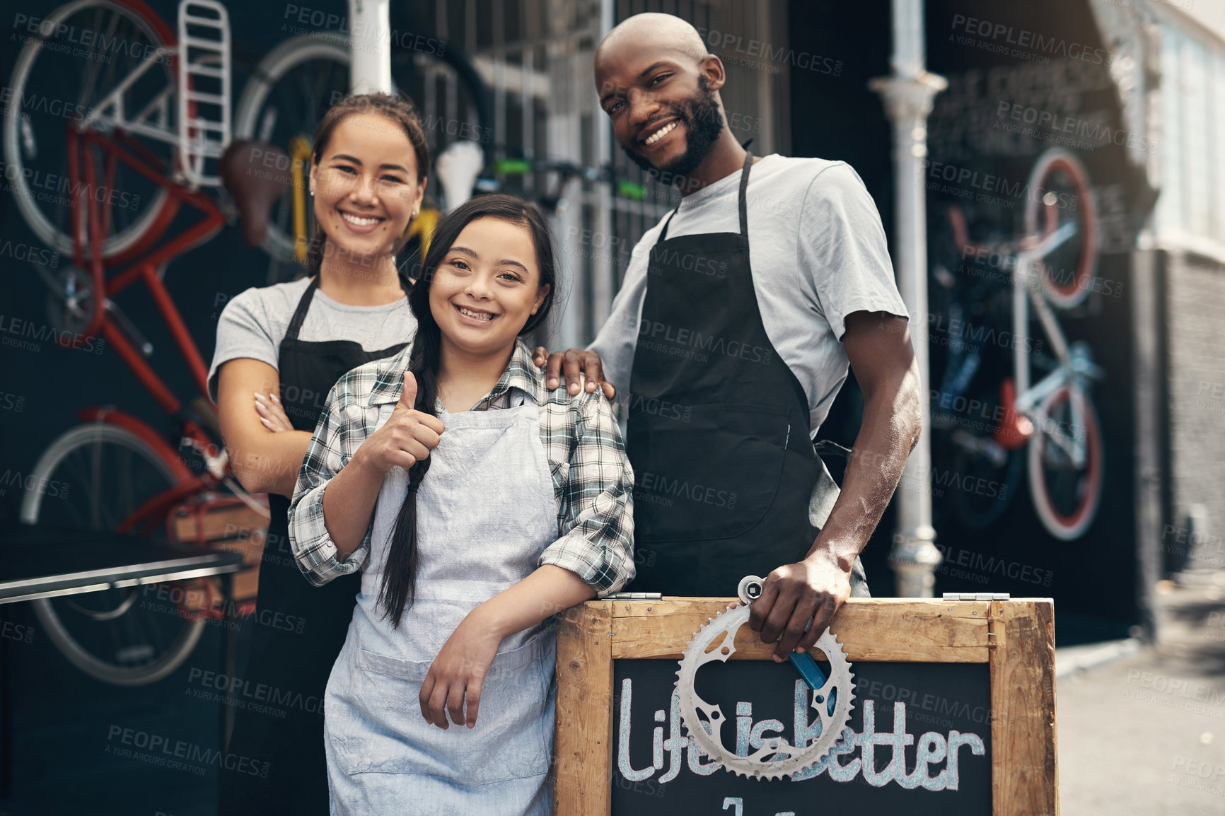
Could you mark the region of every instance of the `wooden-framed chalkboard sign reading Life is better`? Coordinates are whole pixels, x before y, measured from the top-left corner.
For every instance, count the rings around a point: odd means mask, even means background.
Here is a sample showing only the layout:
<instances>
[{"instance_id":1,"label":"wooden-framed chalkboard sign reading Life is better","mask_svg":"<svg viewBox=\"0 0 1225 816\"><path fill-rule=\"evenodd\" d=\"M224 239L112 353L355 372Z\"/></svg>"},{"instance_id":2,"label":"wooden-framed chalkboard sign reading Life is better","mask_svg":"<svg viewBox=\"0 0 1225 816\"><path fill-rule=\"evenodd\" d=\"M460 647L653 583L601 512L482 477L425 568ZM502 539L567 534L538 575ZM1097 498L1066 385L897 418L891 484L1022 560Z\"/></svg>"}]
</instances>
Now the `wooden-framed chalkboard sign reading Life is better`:
<instances>
[{"instance_id":1,"label":"wooden-framed chalkboard sign reading Life is better","mask_svg":"<svg viewBox=\"0 0 1225 816\"><path fill-rule=\"evenodd\" d=\"M851 599L831 630L855 707L834 752L794 778L736 776L690 745L676 660L729 599L588 602L557 643L556 816L1056 812L1051 602ZM696 691L745 755L811 735L811 693L742 626Z\"/></svg>"}]
</instances>

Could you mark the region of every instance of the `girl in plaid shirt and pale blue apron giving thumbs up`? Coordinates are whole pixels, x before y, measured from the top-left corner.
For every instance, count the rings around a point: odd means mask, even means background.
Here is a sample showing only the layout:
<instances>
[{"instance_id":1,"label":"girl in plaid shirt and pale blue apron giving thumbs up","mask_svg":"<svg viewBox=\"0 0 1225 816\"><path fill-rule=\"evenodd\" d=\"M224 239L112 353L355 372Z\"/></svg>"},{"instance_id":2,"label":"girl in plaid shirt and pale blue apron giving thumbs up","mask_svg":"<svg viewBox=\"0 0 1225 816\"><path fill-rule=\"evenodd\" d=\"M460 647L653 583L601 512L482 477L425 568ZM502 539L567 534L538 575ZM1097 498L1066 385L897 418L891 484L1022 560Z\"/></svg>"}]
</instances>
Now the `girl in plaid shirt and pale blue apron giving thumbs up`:
<instances>
[{"instance_id":1,"label":"girl in plaid shirt and pale blue apron giving thumbs up","mask_svg":"<svg viewBox=\"0 0 1225 816\"><path fill-rule=\"evenodd\" d=\"M312 583L361 571L332 814L545 815L551 616L633 577L633 475L604 393L548 390L521 339L556 290L534 207L469 200L423 270L413 343L332 388L289 510Z\"/></svg>"}]
</instances>

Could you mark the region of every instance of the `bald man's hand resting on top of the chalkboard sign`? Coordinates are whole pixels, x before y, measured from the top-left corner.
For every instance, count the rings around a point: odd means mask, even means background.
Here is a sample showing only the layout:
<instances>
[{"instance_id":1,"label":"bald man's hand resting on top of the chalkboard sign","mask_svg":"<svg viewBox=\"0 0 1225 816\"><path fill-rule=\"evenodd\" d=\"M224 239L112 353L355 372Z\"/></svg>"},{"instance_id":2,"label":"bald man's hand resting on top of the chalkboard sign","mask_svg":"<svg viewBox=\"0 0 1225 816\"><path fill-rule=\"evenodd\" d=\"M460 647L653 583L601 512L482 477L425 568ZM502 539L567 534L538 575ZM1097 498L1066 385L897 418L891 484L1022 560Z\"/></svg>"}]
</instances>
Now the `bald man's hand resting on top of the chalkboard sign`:
<instances>
[{"instance_id":1,"label":"bald man's hand resting on top of the chalkboard sign","mask_svg":"<svg viewBox=\"0 0 1225 816\"><path fill-rule=\"evenodd\" d=\"M844 570L826 550L817 550L766 576L762 597L753 602L748 615L748 626L761 633L763 643L778 642L774 662L782 663L793 651L812 648L848 598L850 569Z\"/></svg>"}]
</instances>

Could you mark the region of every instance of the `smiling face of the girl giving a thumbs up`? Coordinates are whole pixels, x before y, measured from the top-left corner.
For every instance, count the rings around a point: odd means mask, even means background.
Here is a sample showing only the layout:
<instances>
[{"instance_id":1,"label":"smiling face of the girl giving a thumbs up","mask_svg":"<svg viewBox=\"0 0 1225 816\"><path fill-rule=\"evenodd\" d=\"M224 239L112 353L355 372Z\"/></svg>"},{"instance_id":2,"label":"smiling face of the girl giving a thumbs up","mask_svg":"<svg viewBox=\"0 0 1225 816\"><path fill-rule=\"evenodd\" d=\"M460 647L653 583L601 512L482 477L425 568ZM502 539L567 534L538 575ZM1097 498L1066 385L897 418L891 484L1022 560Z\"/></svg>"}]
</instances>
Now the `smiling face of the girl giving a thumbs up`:
<instances>
[{"instance_id":1,"label":"smiling face of the girl giving a thumbs up","mask_svg":"<svg viewBox=\"0 0 1225 816\"><path fill-rule=\"evenodd\" d=\"M548 294L528 227L481 217L463 228L434 271L430 312L445 346L499 354Z\"/></svg>"}]
</instances>

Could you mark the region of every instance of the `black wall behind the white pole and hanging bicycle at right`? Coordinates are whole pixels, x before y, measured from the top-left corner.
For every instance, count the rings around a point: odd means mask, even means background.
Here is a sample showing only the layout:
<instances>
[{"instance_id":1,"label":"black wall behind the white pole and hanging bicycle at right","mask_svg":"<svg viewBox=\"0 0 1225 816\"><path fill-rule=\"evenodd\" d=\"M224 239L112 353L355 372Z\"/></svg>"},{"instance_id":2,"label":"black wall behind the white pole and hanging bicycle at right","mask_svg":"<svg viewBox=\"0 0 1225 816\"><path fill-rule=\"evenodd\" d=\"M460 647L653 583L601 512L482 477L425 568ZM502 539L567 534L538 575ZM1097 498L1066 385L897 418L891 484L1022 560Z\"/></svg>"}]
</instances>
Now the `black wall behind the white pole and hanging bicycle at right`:
<instances>
[{"instance_id":1,"label":"black wall behind the white pole and hanging bicycle at right","mask_svg":"<svg viewBox=\"0 0 1225 816\"><path fill-rule=\"evenodd\" d=\"M876 200L893 251L889 124L880 97L866 86L867 80L883 76L889 70L889 4L883 0L858 4L817 1L791 2L789 7L794 48L829 54L845 62L840 77L793 67L794 153L849 162ZM1095 29L1088 4L1061 0L1029 4L929 0L926 12L929 70L951 81L949 89L936 98L929 123L932 162L1008 174L1024 181L1034 159L1051 142L1002 140L998 134L992 134L1001 102L1054 110L1060 115L1096 116L1112 129L1120 126L1117 97L1104 65L1110 59L1109 51ZM965 36L965 22L956 15L990 20L992 36L973 34L959 40L959 34ZM1012 28L1012 33L996 38L997 23ZM997 53L1008 37L1013 40L1020 37L1020 29L1030 32L1030 39L1041 34L1044 40L1054 39L1061 44L1045 54L1025 49L1028 59L1013 54L1012 45L1005 49L1006 53ZM1063 54L1068 51L1088 54L1088 59L1073 66L1071 76L1080 77L1077 87L1069 86L1066 78L1050 81L1051 76L1060 75L1056 70L1058 61L1067 60ZM1044 56L1047 58L1045 62ZM1065 72L1062 76L1069 75ZM1012 81L1005 85L991 85L989 81L1001 77L1012 77ZM982 529L962 524L957 515L948 510L947 496L933 499L937 545L944 549L947 556L946 565L937 570L936 592L993 591L1011 592L1014 597L1052 595L1060 610L1057 620L1061 621L1062 642L1090 636L1120 636L1137 620L1138 544L1133 512L1134 418L1127 250L1134 232L1134 217L1129 212L1145 196L1134 172L1128 168L1123 149L1109 138L1076 148L1091 176L1099 227L1106 236L1096 274L1111 285L1110 292L1093 293L1080 306L1057 312L1068 339L1085 341L1095 361L1106 369L1106 379L1093 388L1105 442L1105 484L1101 507L1093 526L1073 542L1051 537L1033 510L1024 475L1003 516ZM937 184L927 194L929 261L931 267L943 263L956 272L960 257L956 249L949 255L944 213L948 203L958 198L941 192L940 187ZM1147 201L1152 203L1150 198ZM1000 206L995 211L990 206L978 207L975 236L1019 235L1022 202L1014 203L1014 207ZM937 321L930 333L931 382L936 383L932 387L937 387L948 346L947 338L941 337L941 332L947 333L947 330L940 326L947 323L940 322L942 303L936 297L938 284L933 277L930 278L929 290L932 297L927 317L929 321ZM982 320L990 320L990 316ZM932 326L931 322L929 325ZM1011 326L998 320L996 328L1003 331ZM1030 331L1034 337L1040 336L1036 322ZM1011 352L987 349L984 359L984 366L976 375L980 382L997 383L1011 374ZM1033 381L1040 375L1040 370L1033 370ZM856 387L849 385L844 388L822 435L849 445L859 428L861 403ZM933 446L935 470L949 468L949 457L947 450ZM884 559L892 532L892 513L887 513L864 554L870 582L877 587L878 594L891 592L892 575ZM978 566L968 570L965 564L957 566L958 560ZM1000 564L1006 565L1002 571ZM960 573L953 572L953 567ZM1024 571L1027 580L1022 581L1017 576L1025 567L1029 567ZM1033 576L1038 571L1041 571L1042 578L1035 581ZM1008 572L1013 572L1014 577L1008 577ZM1087 586L1091 591L1085 592Z\"/></svg>"}]
</instances>

